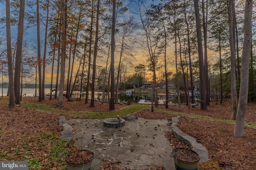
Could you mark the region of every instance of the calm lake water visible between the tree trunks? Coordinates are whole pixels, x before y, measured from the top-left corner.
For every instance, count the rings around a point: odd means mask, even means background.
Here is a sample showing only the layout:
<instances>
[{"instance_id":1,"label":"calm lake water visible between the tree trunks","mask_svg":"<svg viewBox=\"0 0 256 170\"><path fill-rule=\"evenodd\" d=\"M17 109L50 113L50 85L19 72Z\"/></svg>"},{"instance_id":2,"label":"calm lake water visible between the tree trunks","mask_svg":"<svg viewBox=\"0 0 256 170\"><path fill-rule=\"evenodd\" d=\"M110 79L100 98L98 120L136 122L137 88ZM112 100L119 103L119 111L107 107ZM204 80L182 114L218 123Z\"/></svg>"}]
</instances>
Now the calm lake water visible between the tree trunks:
<instances>
[{"instance_id":1,"label":"calm lake water visible between the tree trunks","mask_svg":"<svg viewBox=\"0 0 256 170\"><path fill-rule=\"evenodd\" d=\"M3 88L3 96L7 95L7 90L8 88ZM50 88L44 89L44 92L46 94L50 93ZM38 93L38 89L37 89ZM35 94L35 89L34 88L23 88L22 89L22 95L23 96L34 96ZM64 94L66 94L66 91L64 91ZM105 93L104 95L104 101L108 101L108 97ZM2 88L0 89L0 95L2 96ZM38 96L38 94L37 94ZM72 96L75 98L80 97L80 91L74 91ZM84 99L86 96L86 92L82 93L82 99ZM155 96L156 97L156 96ZM166 95L165 94L158 94L158 100L166 100ZM230 96L226 96L226 98L229 98ZM88 98L91 98L91 92L88 93ZM95 92L94 93L94 98L95 100L102 101L102 92ZM118 102L130 102L130 103L138 103L141 99L146 100L147 102L150 102L152 98L151 93L132 93L132 94L126 94L126 93L118 93ZM211 95L212 100L218 100L219 96ZM180 95L180 102L181 103L186 103L186 98L185 94ZM170 94L168 95L168 103L178 103L178 96L175 94Z\"/></svg>"}]
</instances>

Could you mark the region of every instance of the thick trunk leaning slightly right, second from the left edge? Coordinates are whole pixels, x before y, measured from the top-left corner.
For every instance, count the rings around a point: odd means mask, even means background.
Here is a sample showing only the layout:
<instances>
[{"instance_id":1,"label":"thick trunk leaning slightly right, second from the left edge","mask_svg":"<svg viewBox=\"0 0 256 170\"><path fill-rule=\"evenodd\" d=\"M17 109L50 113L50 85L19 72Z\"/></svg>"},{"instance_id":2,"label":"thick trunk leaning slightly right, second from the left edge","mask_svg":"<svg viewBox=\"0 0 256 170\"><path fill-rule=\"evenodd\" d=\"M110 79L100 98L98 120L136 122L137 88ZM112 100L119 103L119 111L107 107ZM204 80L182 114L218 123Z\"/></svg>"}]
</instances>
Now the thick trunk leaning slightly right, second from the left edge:
<instances>
[{"instance_id":1,"label":"thick trunk leaning slightly right, second from the left edge","mask_svg":"<svg viewBox=\"0 0 256 170\"><path fill-rule=\"evenodd\" d=\"M17 37L17 49L16 49L15 72L14 72L15 104L20 104L20 68L21 68L21 58L22 58L24 15L25 15L25 0L20 0L18 37Z\"/></svg>"}]
</instances>

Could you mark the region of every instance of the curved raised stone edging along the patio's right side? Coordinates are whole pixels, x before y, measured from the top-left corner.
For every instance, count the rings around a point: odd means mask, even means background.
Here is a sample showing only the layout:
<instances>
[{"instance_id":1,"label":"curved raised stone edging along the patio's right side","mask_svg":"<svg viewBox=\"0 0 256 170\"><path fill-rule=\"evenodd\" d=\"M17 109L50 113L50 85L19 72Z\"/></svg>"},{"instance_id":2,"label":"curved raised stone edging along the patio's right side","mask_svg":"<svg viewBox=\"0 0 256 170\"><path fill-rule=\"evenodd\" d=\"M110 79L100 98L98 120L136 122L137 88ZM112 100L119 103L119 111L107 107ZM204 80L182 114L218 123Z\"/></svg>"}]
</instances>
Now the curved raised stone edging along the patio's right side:
<instances>
[{"instance_id":1,"label":"curved raised stone edging along the patio's right side","mask_svg":"<svg viewBox=\"0 0 256 170\"><path fill-rule=\"evenodd\" d=\"M191 137L190 135L187 135L183 131L181 131L176 124L178 124L179 118L178 117L172 117L172 133L175 135L175 137L185 143L186 145L190 146L192 150L194 150L198 155L200 156L200 161L206 162L208 161L208 150L206 147L204 147L201 143L197 142L195 138Z\"/></svg>"}]
</instances>

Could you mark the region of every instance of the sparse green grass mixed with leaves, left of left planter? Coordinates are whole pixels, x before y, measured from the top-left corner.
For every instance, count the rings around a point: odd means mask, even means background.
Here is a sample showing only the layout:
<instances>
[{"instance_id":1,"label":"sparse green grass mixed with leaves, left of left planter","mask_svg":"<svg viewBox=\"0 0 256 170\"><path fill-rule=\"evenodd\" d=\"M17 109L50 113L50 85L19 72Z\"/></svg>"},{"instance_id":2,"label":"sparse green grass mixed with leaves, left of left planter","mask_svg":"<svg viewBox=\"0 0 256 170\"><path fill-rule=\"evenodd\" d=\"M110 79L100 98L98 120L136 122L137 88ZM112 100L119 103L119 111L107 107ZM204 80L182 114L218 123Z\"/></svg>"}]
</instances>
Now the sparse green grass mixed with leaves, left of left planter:
<instances>
[{"instance_id":1,"label":"sparse green grass mixed with leaves, left of left planter","mask_svg":"<svg viewBox=\"0 0 256 170\"><path fill-rule=\"evenodd\" d=\"M8 145L0 153L0 158L8 160L28 161L28 169L59 169L66 168L63 160L68 154L65 141L54 133L41 132L32 137L20 137L14 145Z\"/></svg>"}]
</instances>

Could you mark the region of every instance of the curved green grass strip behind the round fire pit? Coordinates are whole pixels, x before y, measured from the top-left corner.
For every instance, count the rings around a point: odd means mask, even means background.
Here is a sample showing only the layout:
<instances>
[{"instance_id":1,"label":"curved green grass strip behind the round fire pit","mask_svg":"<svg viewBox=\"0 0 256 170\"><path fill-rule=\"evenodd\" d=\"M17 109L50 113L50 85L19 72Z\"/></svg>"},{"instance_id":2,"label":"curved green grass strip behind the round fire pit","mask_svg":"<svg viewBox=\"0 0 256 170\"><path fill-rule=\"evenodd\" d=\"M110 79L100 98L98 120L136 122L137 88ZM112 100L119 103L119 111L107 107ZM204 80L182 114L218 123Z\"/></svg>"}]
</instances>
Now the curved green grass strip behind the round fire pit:
<instances>
[{"instance_id":1,"label":"curved green grass strip behind the round fire pit","mask_svg":"<svg viewBox=\"0 0 256 170\"><path fill-rule=\"evenodd\" d=\"M124 108L122 108L120 110L116 110L116 111L90 112L90 111L67 111L67 110L61 110L61 107L60 107L60 109L56 109L52 106L48 106L48 105L44 105L44 104L29 103L29 102L22 102L22 104L29 109L47 111L50 113L60 113L60 114L64 114L64 115L70 115L74 118L87 117L90 119L117 117L117 115L119 115L121 117L123 115L128 115L128 114L134 113L136 111L139 111L143 108L149 108L148 105L137 104L137 105L131 105L128 107L124 107Z\"/></svg>"}]
</instances>

